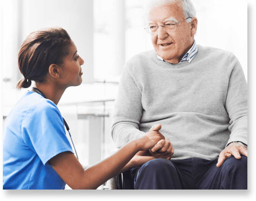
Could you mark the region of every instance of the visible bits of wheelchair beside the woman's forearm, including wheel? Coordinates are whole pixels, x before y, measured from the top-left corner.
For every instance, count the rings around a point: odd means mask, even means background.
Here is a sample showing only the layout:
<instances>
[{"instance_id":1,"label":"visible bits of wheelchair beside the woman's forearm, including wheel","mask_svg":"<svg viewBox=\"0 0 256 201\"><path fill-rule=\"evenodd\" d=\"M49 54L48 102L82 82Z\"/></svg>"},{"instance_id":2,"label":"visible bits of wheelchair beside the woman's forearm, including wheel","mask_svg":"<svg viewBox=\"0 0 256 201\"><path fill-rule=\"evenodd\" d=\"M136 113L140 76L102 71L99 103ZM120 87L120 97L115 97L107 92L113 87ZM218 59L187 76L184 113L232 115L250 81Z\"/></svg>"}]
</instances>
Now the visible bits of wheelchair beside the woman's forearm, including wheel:
<instances>
[{"instance_id":1,"label":"visible bits of wheelchair beside the woman's forearm, including wheel","mask_svg":"<svg viewBox=\"0 0 256 201\"><path fill-rule=\"evenodd\" d=\"M110 155L116 153L119 149L110 151ZM134 190L133 179L131 178L130 170L119 174L100 186L102 190Z\"/></svg>"}]
</instances>

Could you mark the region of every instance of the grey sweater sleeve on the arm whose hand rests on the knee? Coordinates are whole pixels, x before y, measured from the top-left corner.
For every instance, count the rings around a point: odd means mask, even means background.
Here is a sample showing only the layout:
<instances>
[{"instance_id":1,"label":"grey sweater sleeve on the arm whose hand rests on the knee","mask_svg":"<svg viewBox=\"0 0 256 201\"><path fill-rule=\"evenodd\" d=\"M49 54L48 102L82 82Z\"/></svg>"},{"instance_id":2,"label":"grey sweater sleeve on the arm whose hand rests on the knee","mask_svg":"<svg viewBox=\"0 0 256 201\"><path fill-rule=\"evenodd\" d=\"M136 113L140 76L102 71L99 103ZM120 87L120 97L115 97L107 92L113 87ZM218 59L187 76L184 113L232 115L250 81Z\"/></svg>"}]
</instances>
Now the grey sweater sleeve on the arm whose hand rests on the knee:
<instances>
[{"instance_id":1,"label":"grey sweater sleeve on the arm whose hand rests on the knee","mask_svg":"<svg viewBox=\"0 0 256 201\"><path fill-rule=\"evenodd\" d=\"M242 66L233 53L228 57L226 69L229 84L225 106L231 132L227 145L233 141L247 144L247 82Z\"/></svg>"}]
</instances>

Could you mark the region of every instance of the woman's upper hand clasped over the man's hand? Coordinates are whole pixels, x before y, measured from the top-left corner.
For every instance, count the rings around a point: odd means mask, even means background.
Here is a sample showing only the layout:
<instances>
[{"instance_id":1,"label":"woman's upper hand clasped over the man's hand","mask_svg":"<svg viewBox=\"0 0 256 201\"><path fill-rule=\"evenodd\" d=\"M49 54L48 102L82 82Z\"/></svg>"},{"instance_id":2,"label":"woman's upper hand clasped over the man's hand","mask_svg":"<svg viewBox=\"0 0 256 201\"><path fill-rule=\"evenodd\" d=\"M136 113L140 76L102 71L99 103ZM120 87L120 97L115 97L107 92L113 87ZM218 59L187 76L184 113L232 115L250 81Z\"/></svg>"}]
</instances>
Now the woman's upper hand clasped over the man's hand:
<instances>
[{"instance_id":1,"label":"woman's upper hand clasped over the man's hand","mask_svg":"<svg viewBox=\"0 0 256 201\"><path fill-rule=\"evenodd\" d=\"M154 125L149 132L138 140L141 144L141 151L146 151L155 147L153 150L161 149L163 143L165 142L165 137L160 133L161 124Z\"/></svg>"}]
</instances>

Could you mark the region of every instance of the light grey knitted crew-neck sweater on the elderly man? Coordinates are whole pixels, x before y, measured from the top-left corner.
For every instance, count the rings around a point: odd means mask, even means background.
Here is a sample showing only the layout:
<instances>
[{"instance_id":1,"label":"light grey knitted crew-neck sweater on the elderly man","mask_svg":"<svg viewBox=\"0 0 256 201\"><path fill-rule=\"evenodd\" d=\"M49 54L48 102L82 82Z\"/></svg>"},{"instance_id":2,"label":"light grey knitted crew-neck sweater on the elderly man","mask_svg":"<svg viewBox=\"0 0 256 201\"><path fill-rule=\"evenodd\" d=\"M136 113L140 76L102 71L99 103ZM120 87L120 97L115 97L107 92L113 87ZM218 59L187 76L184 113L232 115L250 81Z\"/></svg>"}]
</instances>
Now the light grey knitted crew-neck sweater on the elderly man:
<instances>
[{"instance_id":1,"label":"light grey knitted crew-neck sweater on the elderly man","mask_svg":"<svg viewBox=\"0 0 256 201\"><path fill-rule=\"evenodd\" d=\"M111 136L117 148L154 124L169 138L171 160L214 160L232 141L247 144L247 82L232 52L197 45L188 63L169 64L150 50L124 66Z\"/></svg>"}]
</instances>

